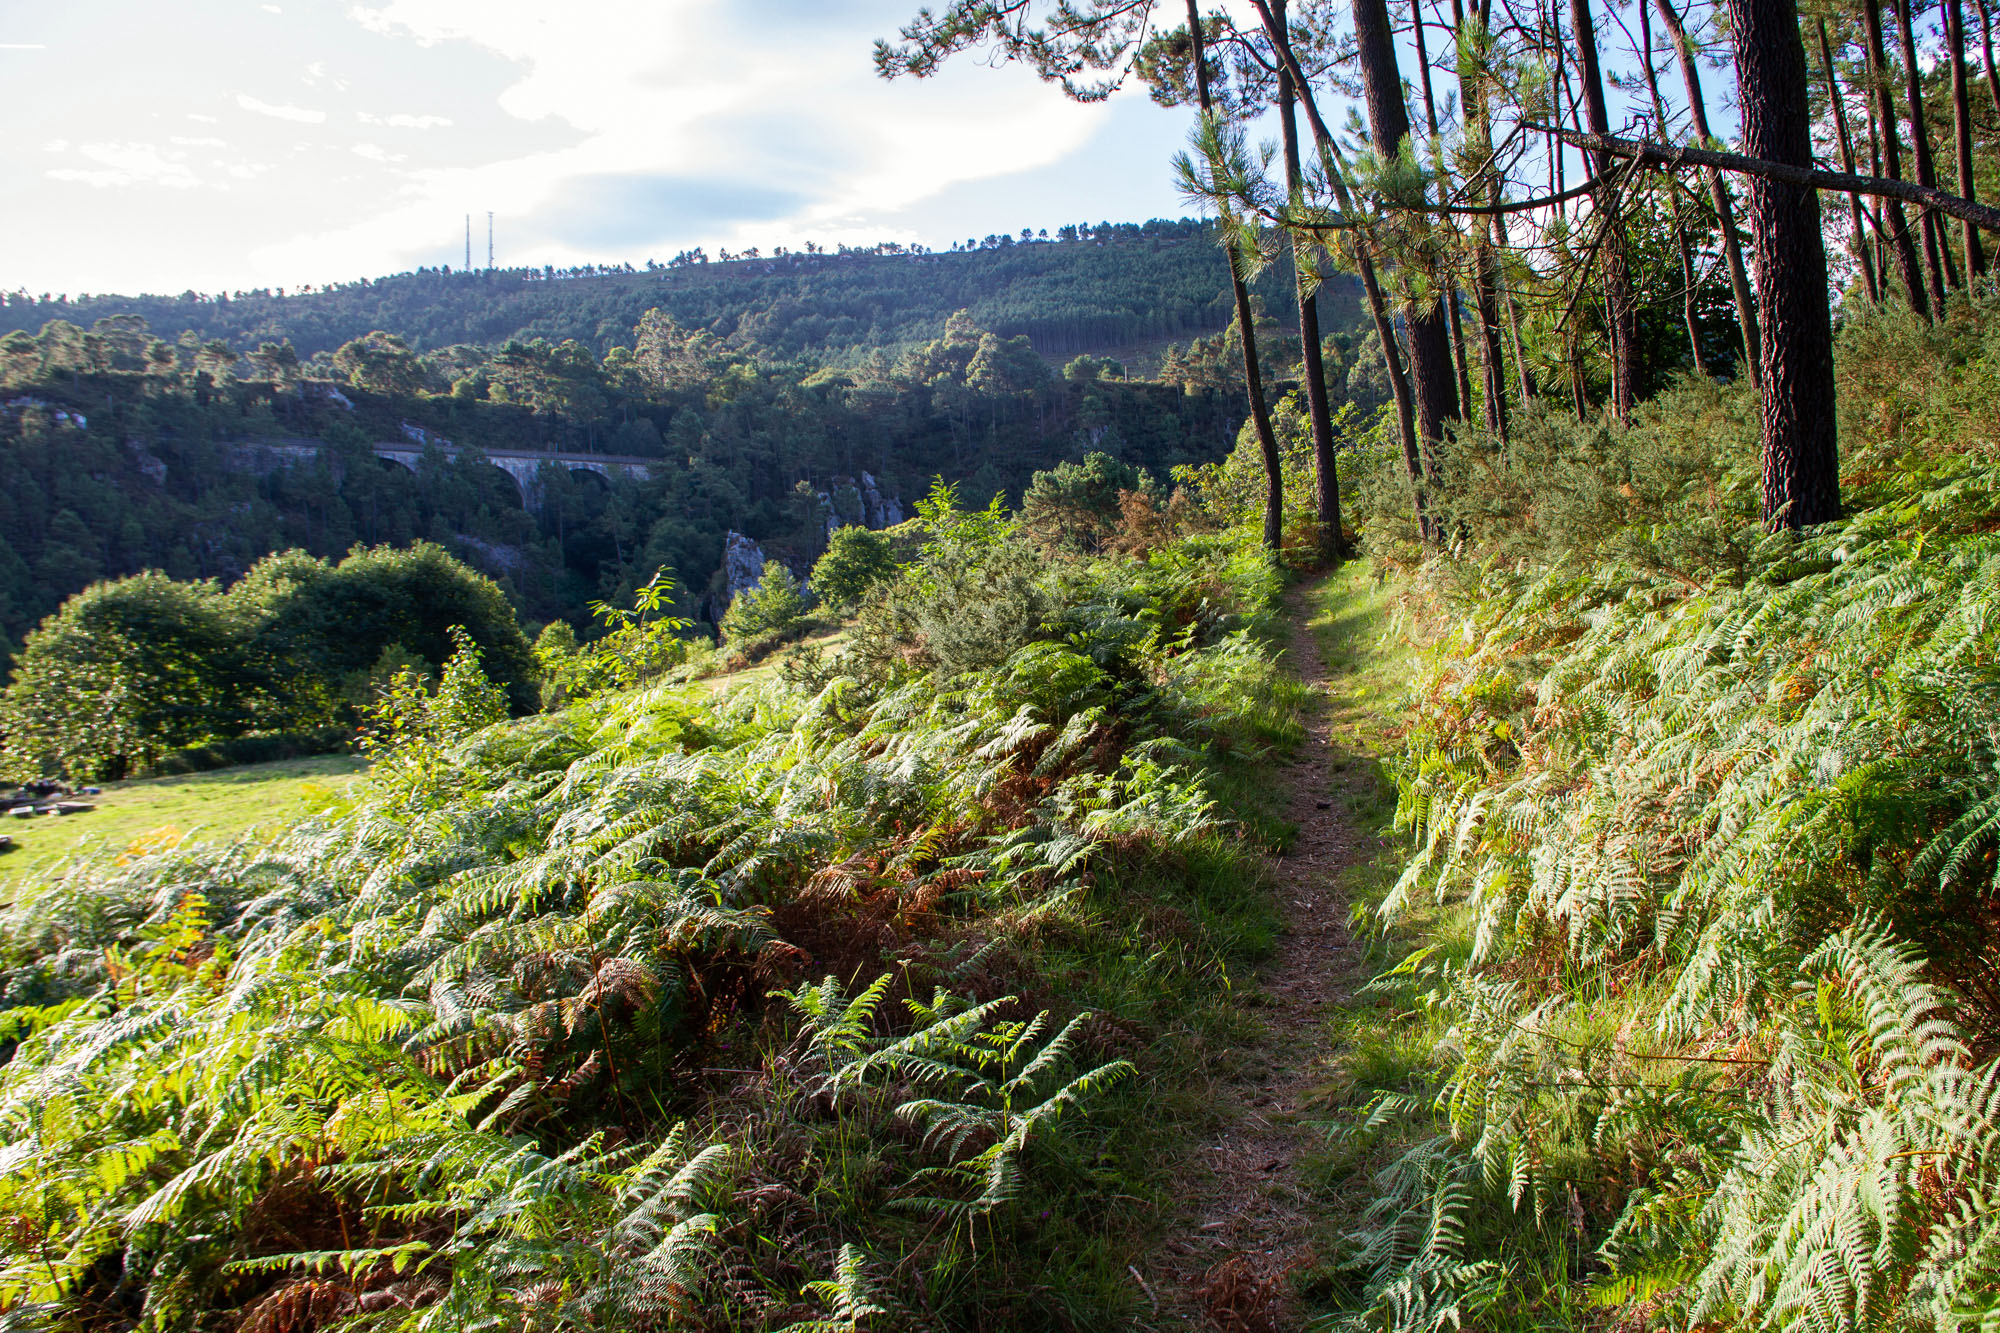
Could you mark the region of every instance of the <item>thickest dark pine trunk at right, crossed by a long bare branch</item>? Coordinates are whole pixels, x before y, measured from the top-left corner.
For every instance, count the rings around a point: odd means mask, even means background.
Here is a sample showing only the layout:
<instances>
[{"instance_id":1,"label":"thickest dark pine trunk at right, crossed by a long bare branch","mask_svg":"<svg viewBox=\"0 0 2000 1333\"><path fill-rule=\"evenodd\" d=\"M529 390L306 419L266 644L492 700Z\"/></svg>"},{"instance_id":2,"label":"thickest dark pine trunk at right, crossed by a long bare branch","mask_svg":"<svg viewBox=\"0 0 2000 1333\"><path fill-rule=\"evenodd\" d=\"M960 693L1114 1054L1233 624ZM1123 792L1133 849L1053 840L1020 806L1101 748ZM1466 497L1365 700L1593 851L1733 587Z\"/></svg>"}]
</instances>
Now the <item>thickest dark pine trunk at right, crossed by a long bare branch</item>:
<instances>
[{"instance_id":1,"label":"thickest dark pine trunk at right, crossed by a long bare branch","mask_svg":"<svg viewBox=\"0 0 2000 1333\"><path fill-rule=\"evenodd\" d=\"M1728 0L1728 12L1744 152L1810 168L1812 108L1798 10L1792 0ZM1750 178L1744 194L1764 330L1764 522L1828 522L1840 516L1840 456L1820 196L1768 178Z\"/></svg>"}]
</instances>

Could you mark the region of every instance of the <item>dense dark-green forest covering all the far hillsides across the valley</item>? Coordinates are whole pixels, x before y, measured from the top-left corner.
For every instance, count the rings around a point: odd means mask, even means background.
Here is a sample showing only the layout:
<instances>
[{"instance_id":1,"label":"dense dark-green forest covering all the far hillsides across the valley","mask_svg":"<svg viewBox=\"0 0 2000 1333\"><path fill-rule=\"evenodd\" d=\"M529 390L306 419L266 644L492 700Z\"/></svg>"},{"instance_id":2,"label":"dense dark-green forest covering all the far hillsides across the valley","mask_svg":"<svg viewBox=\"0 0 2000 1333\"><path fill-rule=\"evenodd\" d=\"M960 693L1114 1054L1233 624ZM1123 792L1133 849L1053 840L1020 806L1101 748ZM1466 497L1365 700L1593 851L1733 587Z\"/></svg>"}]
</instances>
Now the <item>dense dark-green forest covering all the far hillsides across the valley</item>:
<instances>
[{"instance_id":1,"label":"dense dark-green forest covering all the far hillsides across the valley","mask_svg":"<svg viewBox=\"0 0 2000 1333\"><path fill-rule=\"evenodd\" d=\"M632 280L410 274L284 302L100 298L76 310L114 310L90 326L10 332L0 652L100 576L232 578L292 546L338 556L418 538L496 576L536 622L580 626L588 600L660 566L680 572L690 614L714 620L732 530L804 570L830 522L870 518L864 488L894 508L940 472L980 498L1018 496L1038 466L1092 448L1160 476L1214 460L1242 414L1228 312L1190 296L1226 272L1214 230L1066 230L970 254L788 256L770 260L788 268L776 276L734 260ZM1286 288L1266 286L1282 310ZM1080 350L1050 362L952 300ZM1354 336L1352 306L1332 292L1318 304L1336 364L1378 400L1380 356ZM504 336L428 342L452 310L502 320ZM188 324L168 340L154 318ZM1192 336L1158 342L1178 330ZM1154 378L1104 354L1144 338ZM1266 360L1296 378L1298 338ZM400 466L370 452L380 442L440 448ZM550 464L524 482L482 450L656 462L644 478Z\"/></svg>"}]
</instances>

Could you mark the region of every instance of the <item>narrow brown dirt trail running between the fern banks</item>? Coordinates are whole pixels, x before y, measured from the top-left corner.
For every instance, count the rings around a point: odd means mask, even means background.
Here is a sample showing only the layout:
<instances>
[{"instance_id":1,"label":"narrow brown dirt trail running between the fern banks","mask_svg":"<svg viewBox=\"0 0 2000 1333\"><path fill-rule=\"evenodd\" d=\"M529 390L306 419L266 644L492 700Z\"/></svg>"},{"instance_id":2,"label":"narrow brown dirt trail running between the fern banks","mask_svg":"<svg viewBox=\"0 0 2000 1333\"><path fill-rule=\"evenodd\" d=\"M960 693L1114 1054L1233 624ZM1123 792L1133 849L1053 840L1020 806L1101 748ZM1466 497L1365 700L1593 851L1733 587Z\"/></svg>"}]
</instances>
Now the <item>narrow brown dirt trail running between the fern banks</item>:
<instances>
[{"instance_id":1,"label":"narrow brown dirt trail running between the fern banks","mask_svg":"<svg viewBox=\"0 0 2000 1333\"><path fill-rule=\"evenodd\" d=\"M1368 855L1368 835L1340 799L1352 779L1330 763L1326 666L1310 624L1316 586L1286 596L1292 669L1312 687L1314 703L1304 743L1270 775L1298 837L1270 859L1282 933L1242 995L1260 1031L1234 1051L1232 1071L1216 1083L1224 1125L1200 1145L1174 1239L1154 1257L1160 1315L1180 1327L1304 1327L1290 1275L1312 1259L1304 1169L1322 1139L1308 1121L1324 1119L1314 1101L1326 1083L1328 1013L1364 981L1338 879Z\"/></svg>"}]
</instances>

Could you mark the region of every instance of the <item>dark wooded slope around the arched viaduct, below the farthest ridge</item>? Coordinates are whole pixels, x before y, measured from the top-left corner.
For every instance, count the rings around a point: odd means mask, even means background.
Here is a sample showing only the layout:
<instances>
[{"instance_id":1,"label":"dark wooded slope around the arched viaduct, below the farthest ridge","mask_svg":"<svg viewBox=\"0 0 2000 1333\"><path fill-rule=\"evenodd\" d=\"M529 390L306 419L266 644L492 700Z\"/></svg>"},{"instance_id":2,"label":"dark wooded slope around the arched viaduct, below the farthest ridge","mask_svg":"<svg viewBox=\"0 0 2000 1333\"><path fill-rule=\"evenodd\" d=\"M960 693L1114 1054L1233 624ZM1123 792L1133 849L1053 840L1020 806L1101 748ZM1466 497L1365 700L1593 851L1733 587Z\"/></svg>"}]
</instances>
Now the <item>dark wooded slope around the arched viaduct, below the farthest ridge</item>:
<instances>
[{"instance_id":1,"label":"dark wooded slope around the arched viaduct, below the farthest ridge","mask_svg":"<svg viewBox=\"0 0 2000 1333\"><path fill-rule=\"evenodd\" d=\"M130 314L6 334L0 650L100 578L228 580L274 550L412 540L494 576L530 622L584 624L590 600L660 566L690 588L682 610L712 618L732 528L804 570L832 520L868 516L864 472L904 502L936 474L974 500L1018 496L1090 450L1164 476L1228 452L1246 410L1224 334L1174 348L1170 382L1094 356L1058 372L966 314L848 368L762 360L658 310L628 338L604 358L546 340L418 354L372 332L302 362L290 344L168 342ZM1330 352L1368 392L1352 340ZM432 444L412 470L376 456L384 440ZM524 504L482 454L522 448L656 462L646 480L544 466Z\"/></svg>"}]
</instances>

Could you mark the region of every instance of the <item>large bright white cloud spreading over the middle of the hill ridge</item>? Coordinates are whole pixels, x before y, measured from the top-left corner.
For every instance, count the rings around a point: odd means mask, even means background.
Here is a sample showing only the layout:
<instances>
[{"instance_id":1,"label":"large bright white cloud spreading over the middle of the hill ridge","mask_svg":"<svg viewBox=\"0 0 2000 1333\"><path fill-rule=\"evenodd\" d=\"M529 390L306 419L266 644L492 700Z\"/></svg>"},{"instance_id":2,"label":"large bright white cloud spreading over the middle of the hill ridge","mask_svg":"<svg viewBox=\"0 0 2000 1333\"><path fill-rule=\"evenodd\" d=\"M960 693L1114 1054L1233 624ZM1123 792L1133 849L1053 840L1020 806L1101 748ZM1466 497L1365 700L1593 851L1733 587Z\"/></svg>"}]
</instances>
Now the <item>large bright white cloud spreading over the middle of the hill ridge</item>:
<instances>
[{"instance_id":1,"label":"large bright white cloud spreading over the middle of the hill ridge","mask_svg":"<svg viewBox=\"0 0 2000 1333\"><path fill-rule=\"evenodd\" d=\"M730 0L378 0L348 16L368 32L420 44L470 42L520 66L500 106L530 122L574 126L582 142L484 166L410 172L402 206L300 236L258 254L280 266L368 254L428 236L472 202L506 220L560 210L600 178L688 180L718 174L794 194L786 216L716 216L698 234L662 222L620 252L684 244L918 240L894 214L954 186L1032 172L1082 150L1104 108L1078 106L1026 70L950 66L938 78L884 84L870 38L906 6L872 4L878 24L826 14L774 24ZM616 38L606 38L616 34ZM1126 94L1136 96L1136 94ZM442 116L360 116L418 128ZM1160 174L1166 176L1164 154ZM1104 204L1082 210L1116 212ZM632 218L644 228L642 218ZM608 258L604 242L538 238L538 260ZM356 262L360 262L356 258Z\"/></svg>"}]
</instances>

